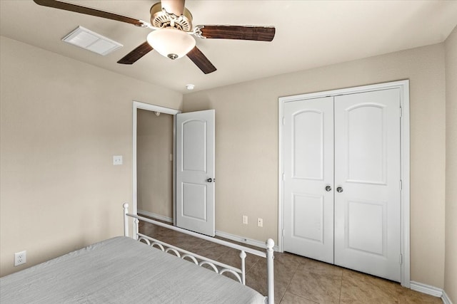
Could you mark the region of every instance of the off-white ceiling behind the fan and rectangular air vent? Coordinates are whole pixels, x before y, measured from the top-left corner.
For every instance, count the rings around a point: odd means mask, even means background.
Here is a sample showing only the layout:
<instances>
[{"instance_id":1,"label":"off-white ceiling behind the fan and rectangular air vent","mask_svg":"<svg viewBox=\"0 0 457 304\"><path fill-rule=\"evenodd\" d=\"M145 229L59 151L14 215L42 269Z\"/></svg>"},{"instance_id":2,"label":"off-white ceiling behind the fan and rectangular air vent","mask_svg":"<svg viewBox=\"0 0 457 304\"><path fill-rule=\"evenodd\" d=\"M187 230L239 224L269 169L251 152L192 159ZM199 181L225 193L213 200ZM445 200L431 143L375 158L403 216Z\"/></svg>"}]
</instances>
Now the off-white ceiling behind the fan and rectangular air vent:
<instances>
[{"instance_id":1,"label":"off-white ceiling behind the fan and rectangular air vent","mask_svg":"<svg viewBox=\"0 0 457 304\"><path fill-rule=\"evenodd\" d=\"M149 21L152 0L68 1ZM457 24L457 1L188 0L198 24L275 26L272 42L199 39L216 66L204 75L189 58L171 61L152 51L134 65L116 63L146 41L147 28L51 9L32 0L0 0L2 36L181 93L306 70L440 43ZM124 45L100 56L61 38L84 26Z\"/></svg>"}]
</instances>

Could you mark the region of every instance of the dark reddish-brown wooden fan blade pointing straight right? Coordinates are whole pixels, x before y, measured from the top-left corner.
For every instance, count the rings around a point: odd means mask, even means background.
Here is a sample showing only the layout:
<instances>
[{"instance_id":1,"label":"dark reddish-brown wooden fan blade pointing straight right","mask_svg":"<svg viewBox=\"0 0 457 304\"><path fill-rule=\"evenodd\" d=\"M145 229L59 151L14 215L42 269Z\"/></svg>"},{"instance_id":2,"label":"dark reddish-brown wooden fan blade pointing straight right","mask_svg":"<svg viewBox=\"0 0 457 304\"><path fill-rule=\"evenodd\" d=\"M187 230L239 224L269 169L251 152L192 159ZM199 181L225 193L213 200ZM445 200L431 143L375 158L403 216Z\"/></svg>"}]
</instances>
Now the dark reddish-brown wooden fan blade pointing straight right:
<instances>
[{"instance_id":1,"label":"dark reddish-brown wooden fan blade pointing straight right","mask_svg":"<svg viewBox=\"0 0 457 304\"><path fill-rule=\"evenodd\" d=\"M273 26L197 26L205 38L272 41Z\"/></svg>"}]
</instances>

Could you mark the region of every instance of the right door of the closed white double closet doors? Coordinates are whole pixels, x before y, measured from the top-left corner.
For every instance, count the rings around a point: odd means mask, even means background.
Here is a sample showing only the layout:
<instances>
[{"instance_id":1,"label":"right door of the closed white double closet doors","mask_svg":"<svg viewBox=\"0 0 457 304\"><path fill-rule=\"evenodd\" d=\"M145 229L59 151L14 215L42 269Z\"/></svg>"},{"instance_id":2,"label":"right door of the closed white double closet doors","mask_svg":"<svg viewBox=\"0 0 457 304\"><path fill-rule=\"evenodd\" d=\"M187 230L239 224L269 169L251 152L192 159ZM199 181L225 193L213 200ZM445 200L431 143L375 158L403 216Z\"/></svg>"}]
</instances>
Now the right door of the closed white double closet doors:
<instances>
[{"instance_id":1,"label":"right door of the closed white double closet doors","mask_svg":"<svg viewBox=\"0 0 457 304\"><path fill-rule=\"evenodd\" d=\"M400 281L399 89L336 96L335 126L335 264Z\"/></svg>"}]
</instances>

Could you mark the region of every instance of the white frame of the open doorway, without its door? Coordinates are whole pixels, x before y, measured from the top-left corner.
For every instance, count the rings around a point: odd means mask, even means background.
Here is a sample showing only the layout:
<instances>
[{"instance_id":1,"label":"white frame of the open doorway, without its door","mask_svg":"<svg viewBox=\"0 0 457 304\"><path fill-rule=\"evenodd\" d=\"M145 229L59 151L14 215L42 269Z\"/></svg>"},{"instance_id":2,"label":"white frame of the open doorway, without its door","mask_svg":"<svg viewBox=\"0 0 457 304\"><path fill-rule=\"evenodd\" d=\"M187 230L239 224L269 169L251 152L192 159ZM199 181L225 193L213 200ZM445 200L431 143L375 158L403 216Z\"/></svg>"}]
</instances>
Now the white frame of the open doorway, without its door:
<instances>
[{"instance_id":1,"label":"white frame of the open doorway, without its door","mask_svg":"<svg viewBox=\"0 0 457 304\"><path fill-rule=\"evenodd\" d=\"M132 197L132 207L133 207L133 211L132 213L133 214L136 214L136 212L138 211L137 209L137 204L138 204L138 178L137 178L137 170L136 170L136 165L137 165L137 159L136 159L136 144L137 144L137 138L136 138L136 133L137 133L137 124L138 124L138 115L137 115L137 112L138 112L138 109L141 109L141 110L148 110L148 111L152 111L152 112L161 112L161 113L164 113L164 114L169 114L169 115L173 115L173 155L175 156L176 155L176 119L175 119L175 115L176 114L179 114L181 113L180 110L176 110L176 109L171 109L171 108L165 108L165 107L161 107L159 105L151 105L149 103L141 103L139 101L135 101L133 102L133 126L132 126L132 193L133 193L133 197ZM176 198L175 198L175 194L176 194L176 177L175 177L175 172L176 172L176 164L175 162L173 162L173 206L174 206L174 209L175 208L175 205L176 205ZM174 210L175 212L175 210ZM173 221L174 221L174 224L176 224L176 216L173 216ZM135 229L135 226L134 225L134 229ZM138 232L138 231L136 231Z\"/></svg>"}]
</instances>

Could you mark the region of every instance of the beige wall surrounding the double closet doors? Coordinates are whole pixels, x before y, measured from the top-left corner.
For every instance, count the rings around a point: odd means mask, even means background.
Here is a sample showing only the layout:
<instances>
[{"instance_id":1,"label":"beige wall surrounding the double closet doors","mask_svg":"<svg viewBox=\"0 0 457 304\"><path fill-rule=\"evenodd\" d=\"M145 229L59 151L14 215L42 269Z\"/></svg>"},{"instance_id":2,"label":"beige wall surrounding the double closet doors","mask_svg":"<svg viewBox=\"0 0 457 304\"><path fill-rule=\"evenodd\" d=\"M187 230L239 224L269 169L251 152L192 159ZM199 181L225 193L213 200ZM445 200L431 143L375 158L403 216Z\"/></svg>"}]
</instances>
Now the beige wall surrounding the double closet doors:
<instances>
[{"instance_id":1,"label":"beige wall surrounding the double closet doors","mask_svg":"<svg viewBox=\"0 0 457 304\"><path fill-rule=\"evenodd\" d=\"M184 112L216 109L216 229L277 239L278 97L402 79L411 94L411 280L443 288L443 43L184 95Z\"/></svg>"}]
</instances>

